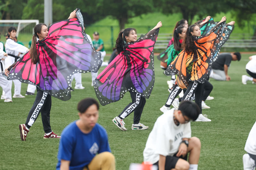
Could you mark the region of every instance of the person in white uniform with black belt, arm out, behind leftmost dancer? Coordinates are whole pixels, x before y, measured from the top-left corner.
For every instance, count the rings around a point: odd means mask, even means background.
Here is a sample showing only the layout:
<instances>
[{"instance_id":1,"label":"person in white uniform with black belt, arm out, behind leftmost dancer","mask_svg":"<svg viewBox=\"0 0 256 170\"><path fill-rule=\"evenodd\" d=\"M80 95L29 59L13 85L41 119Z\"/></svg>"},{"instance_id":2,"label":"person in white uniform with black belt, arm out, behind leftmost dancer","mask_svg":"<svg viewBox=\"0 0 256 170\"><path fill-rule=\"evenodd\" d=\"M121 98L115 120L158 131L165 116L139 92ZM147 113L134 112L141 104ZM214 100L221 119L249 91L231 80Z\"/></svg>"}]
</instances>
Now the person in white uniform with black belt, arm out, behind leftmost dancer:
<instances>
[{"instance_id":1,"label":"person in white uniform with black belt, arm out, behind leftmost dancer","mask_svg":"<svg viewBox=\"0 0 256 170\"><path fill-rule=\"evenodd\" d=\"M16 28L10 27L8 29L9 38L6 40L5 43L5 51L8 54L8 57L4 60L5 67L8 68L13 63L15 63L18 60L19 53L26 53L29 51L29 49L23 45L20 45L14 41L14 38L16 36ZM17 57L14 57L17 56ZM14 95L13 98L24 98L25 96L22 96L20 94L21 89L21 82L19 80L8 80L8 88L12 89L12 81L14 83Z\"/></svg>"}]
</instances>

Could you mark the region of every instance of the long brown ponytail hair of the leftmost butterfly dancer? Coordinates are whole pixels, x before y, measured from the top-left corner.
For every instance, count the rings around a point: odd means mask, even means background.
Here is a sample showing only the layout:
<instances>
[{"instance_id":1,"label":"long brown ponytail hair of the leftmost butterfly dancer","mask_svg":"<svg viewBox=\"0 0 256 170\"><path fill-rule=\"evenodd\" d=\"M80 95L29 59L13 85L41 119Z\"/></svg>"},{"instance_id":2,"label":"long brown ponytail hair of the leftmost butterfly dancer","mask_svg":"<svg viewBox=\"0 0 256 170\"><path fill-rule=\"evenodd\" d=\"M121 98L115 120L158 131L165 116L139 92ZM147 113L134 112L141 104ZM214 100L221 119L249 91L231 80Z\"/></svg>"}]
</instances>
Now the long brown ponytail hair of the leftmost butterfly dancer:
<instances>
[{"instance_id":1,"label":"long brown ponytail hair of the leftmost butterfly dancer","mask_svg":"<svg viewBox=\"0 0 256 170\"><path fill-rule=\"evenodd\" d=\"M37 24L34 28L34 35L32 37L31 41L31 48L29 50L29 57L31 58L31 61L36 64L39 61L38 52L36 49L36 38L39 38L37 33L41 33L42 26L46 26L46 24L40 23Z\"/></svg>"}]
</instances>

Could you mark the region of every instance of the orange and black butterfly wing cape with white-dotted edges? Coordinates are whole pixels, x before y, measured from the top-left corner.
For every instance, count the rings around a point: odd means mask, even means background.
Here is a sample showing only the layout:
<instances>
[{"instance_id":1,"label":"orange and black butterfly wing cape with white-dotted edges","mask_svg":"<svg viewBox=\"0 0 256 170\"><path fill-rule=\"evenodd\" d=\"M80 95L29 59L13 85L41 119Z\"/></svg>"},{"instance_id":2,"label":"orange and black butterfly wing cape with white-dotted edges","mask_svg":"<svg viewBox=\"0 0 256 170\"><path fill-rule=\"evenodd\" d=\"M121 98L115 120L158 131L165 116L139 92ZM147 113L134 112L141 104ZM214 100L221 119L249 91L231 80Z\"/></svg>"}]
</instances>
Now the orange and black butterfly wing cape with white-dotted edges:
<instances>
[{"instance_id":1,"label":"orange and black butterfly wing cape with white-dotted edges","mask_svg":"<svg viewBox=\"0 0 256 170\"><path fill-rule=\"evenodd\" d=\"M222 33L225 22L214 26L205 36L195 40L196 48L192 53L182 50L174 61L167 67L166 75L177 74L177 83L180 88L188 87L188 80L204 83L212 70L213 56L216 48L223 45Z\"/></svg>"}]
</instances>

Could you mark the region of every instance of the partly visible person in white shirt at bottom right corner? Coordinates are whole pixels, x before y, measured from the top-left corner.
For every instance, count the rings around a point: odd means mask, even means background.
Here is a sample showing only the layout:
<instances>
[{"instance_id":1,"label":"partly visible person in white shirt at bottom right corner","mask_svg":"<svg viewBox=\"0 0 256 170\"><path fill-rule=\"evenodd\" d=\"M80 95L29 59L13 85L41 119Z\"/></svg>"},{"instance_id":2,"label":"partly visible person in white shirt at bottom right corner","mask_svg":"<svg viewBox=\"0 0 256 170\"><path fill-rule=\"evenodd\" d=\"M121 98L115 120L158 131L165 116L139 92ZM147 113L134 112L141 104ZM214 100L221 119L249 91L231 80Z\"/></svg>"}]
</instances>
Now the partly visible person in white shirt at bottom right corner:
<instances>
[{"instance_id":1,"label":"partly visible person in white shirt at bottom right corner","mask_svg":"<svg viewBox=\"0 0 256 170\"><path fill-rule=\"evenodd\" d=\"M243 155L244 170L255 170L256 167L256 122L246 140L244 150L247 152Z\"/></svg>"}]
</instances>

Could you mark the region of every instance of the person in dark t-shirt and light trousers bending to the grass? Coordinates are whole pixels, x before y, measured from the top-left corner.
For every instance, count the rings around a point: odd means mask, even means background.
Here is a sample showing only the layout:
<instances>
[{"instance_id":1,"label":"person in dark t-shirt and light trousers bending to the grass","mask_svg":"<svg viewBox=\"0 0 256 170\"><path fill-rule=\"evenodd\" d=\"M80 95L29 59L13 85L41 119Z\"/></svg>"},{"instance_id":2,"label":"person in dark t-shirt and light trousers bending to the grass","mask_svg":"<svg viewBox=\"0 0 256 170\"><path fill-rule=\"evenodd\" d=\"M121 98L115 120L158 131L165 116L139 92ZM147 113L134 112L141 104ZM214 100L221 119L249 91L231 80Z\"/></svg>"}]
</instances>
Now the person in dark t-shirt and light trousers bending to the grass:
<instances>
[{"instance_id":1,"label":"person in dark t-shirt and light trousers bending to the grass","mask_svg":"<svg viewBox=\"0 0 256 170\"><path fill-rule=\"evenodd\" d=\"M217 60L212 63L212 72L210 78L220 81L229 81L228 67L231 61L240 61L241 54L239 52L235 53L221 53Z\"/></svg>"}]
</instances>

